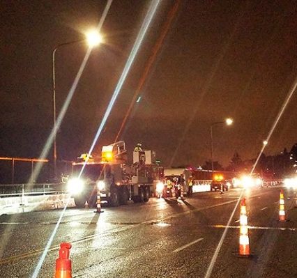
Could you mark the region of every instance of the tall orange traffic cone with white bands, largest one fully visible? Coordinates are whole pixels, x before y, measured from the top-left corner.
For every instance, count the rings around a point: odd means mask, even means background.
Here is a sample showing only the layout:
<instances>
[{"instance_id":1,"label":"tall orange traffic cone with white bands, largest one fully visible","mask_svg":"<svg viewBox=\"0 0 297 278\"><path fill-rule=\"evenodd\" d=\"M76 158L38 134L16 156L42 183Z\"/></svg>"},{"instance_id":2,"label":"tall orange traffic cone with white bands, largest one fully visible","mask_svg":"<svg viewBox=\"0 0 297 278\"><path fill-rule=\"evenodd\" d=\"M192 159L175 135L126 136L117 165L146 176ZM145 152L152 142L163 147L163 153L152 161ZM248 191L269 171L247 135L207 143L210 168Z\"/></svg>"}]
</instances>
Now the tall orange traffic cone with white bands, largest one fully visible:
<instances>
[{"instance_id":1,"label":"tall orange traffic cone with white bands, largest one fully visible","mask_svg":"<svg viewBox=\"0 0 297 278\"><path fill-rule=\"evenodd\" d=\"M248 216L245 205L245 198L241 200L241 218L239 235L239 256L250 256L250 240L248 238Z\"/></svg>"}]
</instances>

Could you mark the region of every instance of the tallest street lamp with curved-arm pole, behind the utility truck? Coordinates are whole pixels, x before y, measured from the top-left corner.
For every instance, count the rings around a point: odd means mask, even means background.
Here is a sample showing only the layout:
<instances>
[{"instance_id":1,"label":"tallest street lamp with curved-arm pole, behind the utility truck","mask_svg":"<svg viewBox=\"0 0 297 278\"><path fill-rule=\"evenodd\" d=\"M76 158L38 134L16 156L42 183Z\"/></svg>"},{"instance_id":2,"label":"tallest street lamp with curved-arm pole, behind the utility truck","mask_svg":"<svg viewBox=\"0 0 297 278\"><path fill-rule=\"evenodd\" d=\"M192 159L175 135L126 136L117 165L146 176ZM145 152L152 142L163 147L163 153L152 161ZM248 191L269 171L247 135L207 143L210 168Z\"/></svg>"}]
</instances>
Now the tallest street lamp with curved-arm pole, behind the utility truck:
<instances>
[{"instance_id":1,"label":"tallest street lamp with curved-arm pole, behind the utility truck","mask_svg":"<svg viewBox=\"0 0 297 278\"><path fill-rule=\"evenodd\" d=\"M82 43L86 41L89 47L95 47L102 43L102 36L96 30L89 31L86 33L86 38L81 40L73 40L67 43L61 43L57 45L52 52L52 103L53 103L53 122L54 122L54 146L53 146L53 158L54 158L54 177L56 178L56 72L55 72L55 63L56 63L56 50L64 45L73 45L74 43Z\"/></svg>"}]
</instances>

